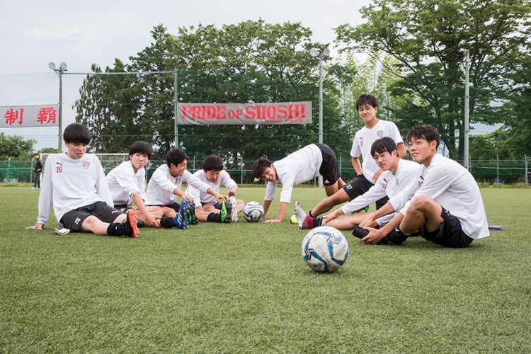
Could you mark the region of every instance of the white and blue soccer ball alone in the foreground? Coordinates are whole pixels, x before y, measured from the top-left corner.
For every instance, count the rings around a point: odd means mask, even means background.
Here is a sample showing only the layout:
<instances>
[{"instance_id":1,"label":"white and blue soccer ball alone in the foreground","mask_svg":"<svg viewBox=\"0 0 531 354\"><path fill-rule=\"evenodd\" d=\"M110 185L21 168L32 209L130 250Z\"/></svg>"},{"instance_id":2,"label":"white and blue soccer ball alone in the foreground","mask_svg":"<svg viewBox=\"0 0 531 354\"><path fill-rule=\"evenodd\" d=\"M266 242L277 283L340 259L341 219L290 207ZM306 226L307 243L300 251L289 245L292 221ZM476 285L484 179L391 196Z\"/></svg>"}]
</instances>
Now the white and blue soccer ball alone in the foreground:
<instances>
[{"instance_id":1,"label":"white and blue soccer ball alone in the foreground","mask_svg":"<svg viewBox=\"0 0 531 354\"><path fill-rule=\"evenodd\" d=\"M335 272L345 264L347 257L347 239L333 227L316 227L302 240L302 258L316 272Z\"/></svg>"}]
</instances>

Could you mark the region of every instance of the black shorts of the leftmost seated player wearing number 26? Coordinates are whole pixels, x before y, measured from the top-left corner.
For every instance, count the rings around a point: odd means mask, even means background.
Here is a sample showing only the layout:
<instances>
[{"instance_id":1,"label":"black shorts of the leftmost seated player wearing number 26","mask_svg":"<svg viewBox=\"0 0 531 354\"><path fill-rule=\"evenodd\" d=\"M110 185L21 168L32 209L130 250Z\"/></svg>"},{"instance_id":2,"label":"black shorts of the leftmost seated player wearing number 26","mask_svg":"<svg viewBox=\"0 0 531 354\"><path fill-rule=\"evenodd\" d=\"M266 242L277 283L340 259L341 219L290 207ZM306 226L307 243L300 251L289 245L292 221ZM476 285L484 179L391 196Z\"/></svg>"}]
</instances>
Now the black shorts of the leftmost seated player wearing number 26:
<instances>
[{"instance_id":1,"label":"black shorts of the leftmost seated player wearing number 26","mask_svg":"<svg viewBox=\"0 0 531 354\"><path fill-rule=\"evenodd\" d=\"M77 209L70 210L63 215L59 224L62 227L70 229L72 231L79 231L81 224L83 224L86 217L91 215L97 217L103 222L114 222L118 215L125 214L120 210L116 210L110 207L106 202L95 202L94 204L85 205L84 207L78 207Z\"/></svg>"}]
</instances>

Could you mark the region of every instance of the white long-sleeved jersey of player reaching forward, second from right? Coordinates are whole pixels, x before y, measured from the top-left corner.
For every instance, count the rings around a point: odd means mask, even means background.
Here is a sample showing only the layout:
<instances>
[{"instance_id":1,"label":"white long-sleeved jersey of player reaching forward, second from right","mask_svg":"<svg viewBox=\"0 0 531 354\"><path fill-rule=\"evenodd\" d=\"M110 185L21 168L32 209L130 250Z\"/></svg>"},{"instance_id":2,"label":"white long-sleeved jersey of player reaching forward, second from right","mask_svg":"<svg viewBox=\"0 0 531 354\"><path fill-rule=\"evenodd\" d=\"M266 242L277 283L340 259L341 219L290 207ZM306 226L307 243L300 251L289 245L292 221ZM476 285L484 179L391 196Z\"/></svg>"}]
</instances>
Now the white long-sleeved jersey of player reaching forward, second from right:
<instances>
[{"instance_id":1,"label":"white long-sleeved jersey of player reaching forward, second from right","mask_svg":"<svg viewBox=\"0 0 531 354\"><path fill-rule=\"evenodd\" d=\"M392 198L394 195L398 195L410 185L420 169L420 164L400 159L399 164L396 167L396 173L393 174L391 171L383 171L375 185L367 190L367 192L359 195L341 207L343 214L360 210L362 207L366 207L367 205L370 205L370 203L386 196ZM393 217L394 213L385 215L384 217L377 219L377 223L379 225L387 224L387 222Z\"/></svg>"}]
</instances>

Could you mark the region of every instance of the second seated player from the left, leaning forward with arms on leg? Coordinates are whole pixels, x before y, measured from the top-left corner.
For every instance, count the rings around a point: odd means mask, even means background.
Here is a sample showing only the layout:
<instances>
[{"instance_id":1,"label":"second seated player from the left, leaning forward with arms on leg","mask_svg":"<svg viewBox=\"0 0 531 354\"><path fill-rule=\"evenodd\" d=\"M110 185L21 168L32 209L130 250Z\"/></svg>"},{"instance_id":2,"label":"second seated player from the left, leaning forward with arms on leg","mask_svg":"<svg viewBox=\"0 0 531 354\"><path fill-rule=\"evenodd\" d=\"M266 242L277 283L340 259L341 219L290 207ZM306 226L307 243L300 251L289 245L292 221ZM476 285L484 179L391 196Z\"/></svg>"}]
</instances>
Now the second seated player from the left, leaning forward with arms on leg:
<instances>
[{"instance_id":1,"label":"second seated player from the left, leaning forward with arms on leg","mask_svg":"<svg viewBox=\"0 0 531 354\"><path fill-rule=\"evenodd\" d=\"M127 210L135 202L132 211L137 219L148 227L166 228L175 226L177 213L171 208L147 207L146 198L146 166L151 159L153 149L147 142L134 142L129 149L129 160L123 161L107 174L110 194L113 196L114 207Z\"/></svg>"}]
</instances>

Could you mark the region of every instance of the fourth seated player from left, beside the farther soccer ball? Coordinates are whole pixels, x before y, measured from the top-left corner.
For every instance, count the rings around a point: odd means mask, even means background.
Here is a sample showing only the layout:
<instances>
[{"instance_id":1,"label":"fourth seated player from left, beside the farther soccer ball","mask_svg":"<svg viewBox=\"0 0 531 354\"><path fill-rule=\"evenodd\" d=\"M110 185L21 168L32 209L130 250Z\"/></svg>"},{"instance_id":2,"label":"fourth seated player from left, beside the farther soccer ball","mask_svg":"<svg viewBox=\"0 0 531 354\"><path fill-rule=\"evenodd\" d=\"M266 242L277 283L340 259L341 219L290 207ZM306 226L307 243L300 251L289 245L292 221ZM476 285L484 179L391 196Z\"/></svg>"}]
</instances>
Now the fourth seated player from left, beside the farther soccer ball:
<instances>
[{"instance_id":1,"label":"fourth seated player from left, beside the farther soccer ball","mask_svg":"<svg viewBox=\"0 0 531 354\"><path fill-rule=\"evenodd\" d=\"M207 156L203 159L201 167L202 169L195 171L193 176L210 185L217 193L221 185L224 185L227 188L225 198L229 202L224 205L223 202L215 200L212 195L200 192L192 185L188 185L185 193L190 195L195 202L195 216L201 222L237 222L238 213L244 210L244 201L236 200L238 185L229 173L223 170L222 159L216 155ZM230 212L227 212L227 207L231 207Z\"/></svg>"}]
</instances>

